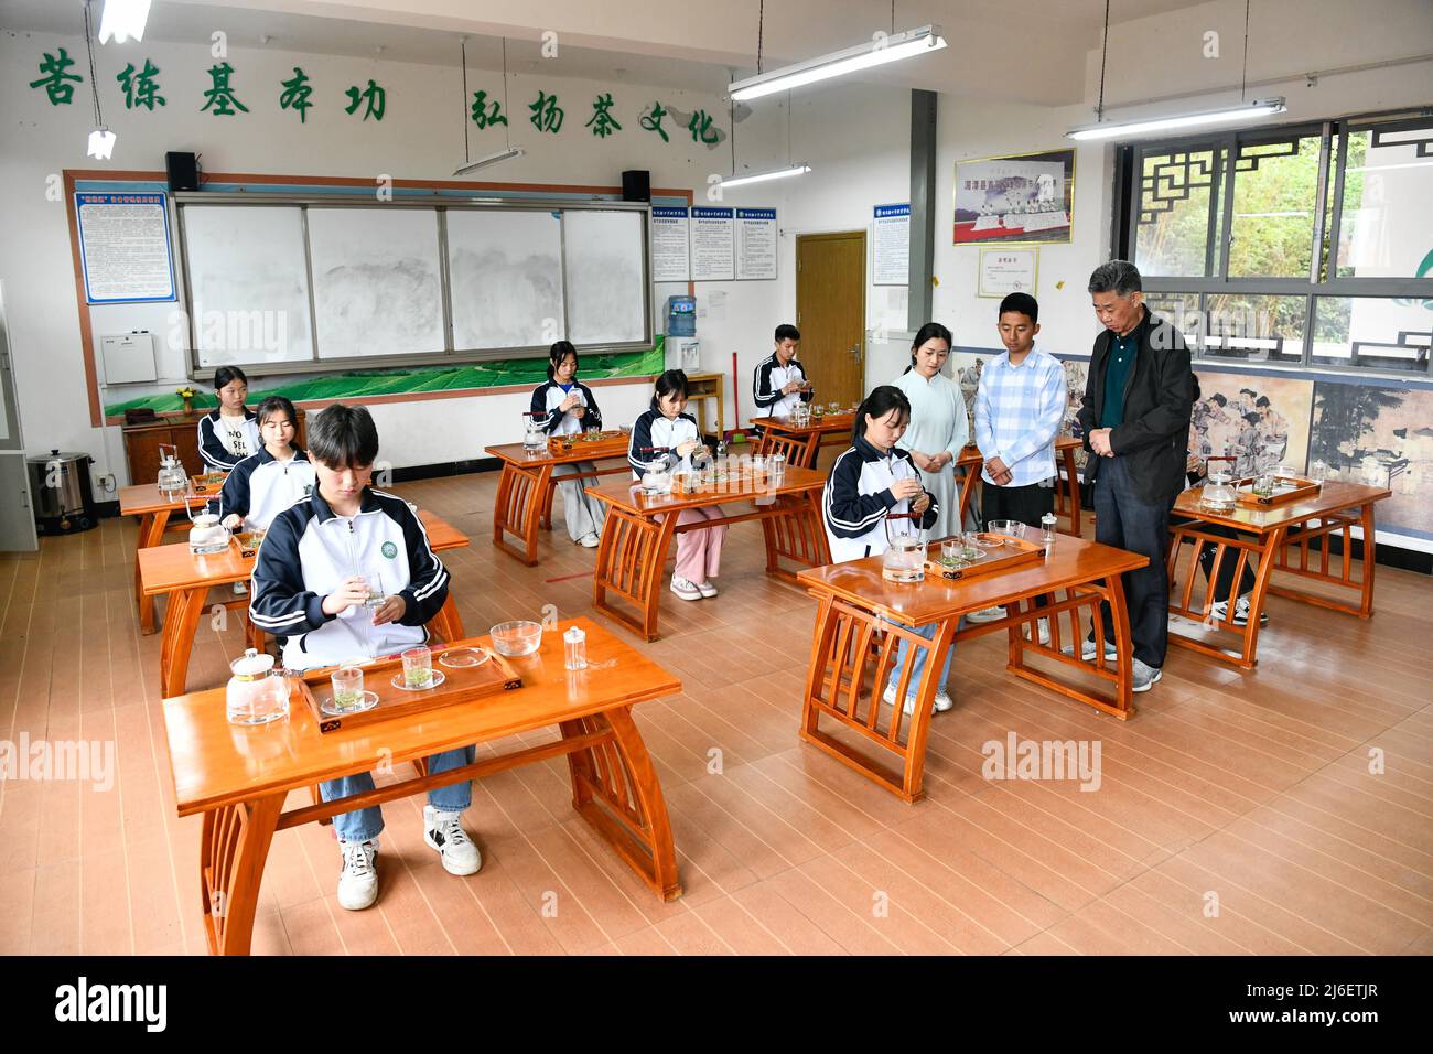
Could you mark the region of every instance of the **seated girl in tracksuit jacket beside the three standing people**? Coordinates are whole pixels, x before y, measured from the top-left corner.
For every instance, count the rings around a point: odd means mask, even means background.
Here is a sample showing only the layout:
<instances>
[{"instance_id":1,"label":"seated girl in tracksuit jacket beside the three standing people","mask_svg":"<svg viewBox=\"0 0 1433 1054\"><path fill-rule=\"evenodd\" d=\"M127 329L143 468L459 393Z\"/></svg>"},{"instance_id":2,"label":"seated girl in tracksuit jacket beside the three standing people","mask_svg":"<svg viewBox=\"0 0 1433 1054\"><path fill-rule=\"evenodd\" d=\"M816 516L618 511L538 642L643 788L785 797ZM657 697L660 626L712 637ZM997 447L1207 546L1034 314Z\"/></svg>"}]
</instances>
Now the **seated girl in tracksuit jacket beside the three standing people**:
<instances>
[{"instance_id":1,"label":"seated girl in tracksuit jacket beside the three standing people","mask_svg":"<svg viewBox=\"0 0 1433 1054\"><path fill-rule=\"evenodd\" d=\"M910 424L910 400L906 393L891 384L881 384L866 397L856 410L856 429L851 446L835 459L831 475L825 480L821 508L825 519L825 536L831 543L831 561L844 564L886 552L890 535L917 533L934 526L940 509L934 496L920 482L920 472L910 452L896 443L906 435ZM914 513L919 519L887 519L893 515ZM936 625L916 627L921 637L936 635ZM901 641L897 645L896 663L884 698L896 704L896 685L910 647ZM946 690L950 678L950 660L956 645L946 652L936 684L936 710L950 710L954 703ZM906 713L916 710L916 688L926 665L926 652L917 651L911 663L910 684L904 701Z\"/></svg>"}]
</instances>

